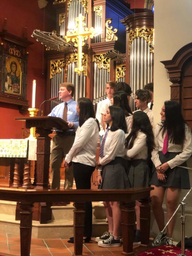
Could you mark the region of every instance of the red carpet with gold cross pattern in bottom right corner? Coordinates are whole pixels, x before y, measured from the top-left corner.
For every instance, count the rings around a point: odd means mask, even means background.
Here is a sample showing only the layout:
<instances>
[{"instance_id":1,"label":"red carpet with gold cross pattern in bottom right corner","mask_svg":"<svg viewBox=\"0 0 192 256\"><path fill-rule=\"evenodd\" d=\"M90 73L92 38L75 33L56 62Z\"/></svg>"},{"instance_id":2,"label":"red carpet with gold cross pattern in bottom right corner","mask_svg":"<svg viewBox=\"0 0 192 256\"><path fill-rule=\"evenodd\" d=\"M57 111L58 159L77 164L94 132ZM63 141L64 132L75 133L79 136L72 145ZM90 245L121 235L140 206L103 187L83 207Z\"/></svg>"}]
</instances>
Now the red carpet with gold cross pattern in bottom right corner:
<instances>
[{"instance_id":1,"label":"red carpet with gold cross pattern in bottom right corner","mask_svg":"<svg viewBox=\"0 0 192 256\"><path fill-rule=\"evenodd\" d=\"M153 247L152 249L140 253L138 256L146 256L146 255L164 255L164 256L176 256L177 254L181 253L181 247L176 247L172 245L163 245L159 247ZM185 249L186 256L192 256L192 251L189 249Z\"/></svg>"}]
</instances>

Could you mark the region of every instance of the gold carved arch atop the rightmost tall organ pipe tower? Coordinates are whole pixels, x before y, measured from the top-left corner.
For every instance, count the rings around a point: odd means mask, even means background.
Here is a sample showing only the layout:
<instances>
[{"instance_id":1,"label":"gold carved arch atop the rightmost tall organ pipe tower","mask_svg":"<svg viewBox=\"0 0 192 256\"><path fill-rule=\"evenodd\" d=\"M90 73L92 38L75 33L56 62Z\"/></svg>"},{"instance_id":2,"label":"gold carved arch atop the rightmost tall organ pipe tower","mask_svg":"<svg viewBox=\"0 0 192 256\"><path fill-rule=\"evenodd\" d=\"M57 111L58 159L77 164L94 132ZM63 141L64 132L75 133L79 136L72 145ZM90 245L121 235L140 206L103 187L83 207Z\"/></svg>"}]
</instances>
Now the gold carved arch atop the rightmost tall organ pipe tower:
<instances>
[{"instance_id":1,"label":"gold carved arch atop the rightmost tall organ pipe tower","mask_svg":"<svg viewBox=\"0 0 192 256\"><path fill-rule=\"evenodd\" d=\"M131 44L135 38L143 37L148 42L150 52L153 53L153 28L135 28L129 32L129 55L131 50Z\"/></svg>"}]
</instances>

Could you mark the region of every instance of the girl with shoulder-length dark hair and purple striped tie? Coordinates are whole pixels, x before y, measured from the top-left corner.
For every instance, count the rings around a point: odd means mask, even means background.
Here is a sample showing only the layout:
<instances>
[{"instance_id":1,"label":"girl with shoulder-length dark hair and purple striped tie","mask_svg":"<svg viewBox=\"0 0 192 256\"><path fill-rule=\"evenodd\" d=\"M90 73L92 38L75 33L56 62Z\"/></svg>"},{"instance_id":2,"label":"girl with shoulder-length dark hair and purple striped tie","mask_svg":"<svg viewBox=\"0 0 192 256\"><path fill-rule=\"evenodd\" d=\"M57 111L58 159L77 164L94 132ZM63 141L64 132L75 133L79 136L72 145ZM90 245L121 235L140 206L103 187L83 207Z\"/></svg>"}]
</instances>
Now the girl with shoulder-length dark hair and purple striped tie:
<instances>
[{"instance_id":1,"label":"girl with shoulder-length dark hair and purple striped tie","mask_svg":"<svg viewBox=\"0 0 192 256\"><path fill-rule=\"evenodd\" d=\"M96 165L97 169L98 166L102 166L102 172L98 170L97 181L101 183L101 189L129 188L129 179L125 173L126 160L123 158L123 145L127 132L125 114L121 108L110 106L104 114L104 121L108 124L108 129L102 140L100 158ZM103 236L97 237L96 241L101 247L120 246L120 202L103 203L108 218L109 231L104 233Z\"/></svg>"}]
</instances>

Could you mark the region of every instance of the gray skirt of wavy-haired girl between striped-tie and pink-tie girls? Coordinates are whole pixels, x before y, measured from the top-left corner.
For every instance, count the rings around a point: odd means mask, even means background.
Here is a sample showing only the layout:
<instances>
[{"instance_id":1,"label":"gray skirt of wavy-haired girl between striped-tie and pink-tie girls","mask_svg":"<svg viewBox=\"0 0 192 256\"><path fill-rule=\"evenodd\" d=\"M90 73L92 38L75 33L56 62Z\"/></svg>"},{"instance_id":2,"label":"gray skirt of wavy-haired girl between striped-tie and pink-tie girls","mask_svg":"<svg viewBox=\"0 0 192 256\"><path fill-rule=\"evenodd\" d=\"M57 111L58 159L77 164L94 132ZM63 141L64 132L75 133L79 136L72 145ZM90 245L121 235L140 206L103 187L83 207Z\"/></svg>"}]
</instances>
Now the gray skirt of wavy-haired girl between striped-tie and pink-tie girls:
<instances>
[{"instance_id":1,"label":"gray skirt of wavy-haired girl between striped-tie and pink-tie girls","mask_svg":"<svg viewBox=\"0 0 192 256\"><path fill-rule=\"evenodd\" d=\"M134 159L128 161L127 176L131 187L148 187L149 186L149 167L144 159Z\"/></svg>"}]
</instances>

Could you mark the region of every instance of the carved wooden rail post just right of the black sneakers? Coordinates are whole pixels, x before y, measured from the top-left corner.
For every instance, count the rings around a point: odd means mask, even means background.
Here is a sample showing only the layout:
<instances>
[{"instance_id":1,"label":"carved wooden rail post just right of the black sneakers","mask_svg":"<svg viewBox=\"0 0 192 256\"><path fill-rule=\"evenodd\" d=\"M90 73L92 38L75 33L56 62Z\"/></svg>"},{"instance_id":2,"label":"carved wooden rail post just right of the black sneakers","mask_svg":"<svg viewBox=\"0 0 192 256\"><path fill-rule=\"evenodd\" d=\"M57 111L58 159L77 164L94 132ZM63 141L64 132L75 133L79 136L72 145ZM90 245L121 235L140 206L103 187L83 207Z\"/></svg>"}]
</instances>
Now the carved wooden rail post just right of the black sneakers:
<instances>
[{"instance_id":1,"label":"carved wooden rail post just right of the black sneakers","mask_svg":"<svg viewBox=\"0 0 192 256\"><path fill-rule=\"evenodd\" d=\"M122 203L122 235L123 252L122 255L134 255L133 240L135 226L135 203Z\"/></svg>"}]
</instances>

